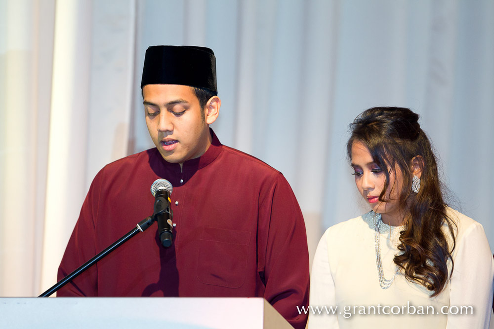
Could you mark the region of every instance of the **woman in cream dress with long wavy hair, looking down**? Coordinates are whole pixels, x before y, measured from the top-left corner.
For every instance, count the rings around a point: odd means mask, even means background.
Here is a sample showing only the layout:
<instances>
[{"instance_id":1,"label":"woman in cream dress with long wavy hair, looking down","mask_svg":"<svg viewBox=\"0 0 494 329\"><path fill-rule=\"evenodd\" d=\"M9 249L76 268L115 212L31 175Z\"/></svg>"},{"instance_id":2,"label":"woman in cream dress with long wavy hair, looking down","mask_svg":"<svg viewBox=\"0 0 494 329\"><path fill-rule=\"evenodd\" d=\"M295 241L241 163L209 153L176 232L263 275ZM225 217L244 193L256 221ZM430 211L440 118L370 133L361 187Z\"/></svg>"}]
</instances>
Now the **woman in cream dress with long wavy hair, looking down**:
<instances>
[{"instance_id":1,"label":"woman in cream dress with long wavy hair, looking down","mask_svg":"<svg viewBox=\"0 0 494 329\"><path fill-rule=\"evenodd\" d=\"M418 114L372 108L350 127L347 152L371 211L321 238L309 328L489 328L489 243L445 204Z\"/></svg>"}]
</instances>

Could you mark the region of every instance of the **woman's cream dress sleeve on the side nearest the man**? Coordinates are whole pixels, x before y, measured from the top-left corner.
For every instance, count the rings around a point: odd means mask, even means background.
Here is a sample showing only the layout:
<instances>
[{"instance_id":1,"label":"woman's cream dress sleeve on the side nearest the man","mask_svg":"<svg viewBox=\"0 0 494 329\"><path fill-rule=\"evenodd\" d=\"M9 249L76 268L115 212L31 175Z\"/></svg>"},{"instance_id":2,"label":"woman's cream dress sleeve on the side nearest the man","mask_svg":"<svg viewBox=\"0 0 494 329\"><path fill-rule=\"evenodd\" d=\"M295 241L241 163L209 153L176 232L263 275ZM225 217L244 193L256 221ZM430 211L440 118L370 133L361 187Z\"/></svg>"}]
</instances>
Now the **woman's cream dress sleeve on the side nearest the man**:
<instances>
[{"instance_id":1,"label":"woman's cream dress sleeve on the side nearest the man","mask_svg":"<svg viewBox=\"0 0 494 329\"><path fill-rule=\"evenodd\" d=\"M337 310L335 309L334 281L329 268L328 235L329 229L326 230L319 241L312 261L309 329L339 328ZM334 311L334 314L332 311Z\"/></svg>"}]
</instances>

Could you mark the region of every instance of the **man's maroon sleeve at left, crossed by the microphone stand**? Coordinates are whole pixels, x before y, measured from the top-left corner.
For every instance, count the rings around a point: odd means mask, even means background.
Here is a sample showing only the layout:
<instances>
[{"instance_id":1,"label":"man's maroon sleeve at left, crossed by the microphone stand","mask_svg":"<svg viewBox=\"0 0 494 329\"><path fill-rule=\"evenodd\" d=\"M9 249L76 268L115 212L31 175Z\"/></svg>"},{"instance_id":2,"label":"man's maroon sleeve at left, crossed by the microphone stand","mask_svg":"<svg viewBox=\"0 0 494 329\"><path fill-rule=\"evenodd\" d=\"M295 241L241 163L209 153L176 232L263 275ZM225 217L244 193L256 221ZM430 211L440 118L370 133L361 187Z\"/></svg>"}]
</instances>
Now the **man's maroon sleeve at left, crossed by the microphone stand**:
<instances>
[{"instance_id":1,"label":"man's maroon sleeve at left, crossed by the microphone stand","mask_svg":"<svg viewBox=\"0 0 494 329\"><path fill-rule=\"evenodd\" d=\"M95 218L100 200L100 174L91 183L81 213L58 267L60 281L96 255ZM59 297L97 296L97 264L57 291Z\"/></svg>"}]
</instances>

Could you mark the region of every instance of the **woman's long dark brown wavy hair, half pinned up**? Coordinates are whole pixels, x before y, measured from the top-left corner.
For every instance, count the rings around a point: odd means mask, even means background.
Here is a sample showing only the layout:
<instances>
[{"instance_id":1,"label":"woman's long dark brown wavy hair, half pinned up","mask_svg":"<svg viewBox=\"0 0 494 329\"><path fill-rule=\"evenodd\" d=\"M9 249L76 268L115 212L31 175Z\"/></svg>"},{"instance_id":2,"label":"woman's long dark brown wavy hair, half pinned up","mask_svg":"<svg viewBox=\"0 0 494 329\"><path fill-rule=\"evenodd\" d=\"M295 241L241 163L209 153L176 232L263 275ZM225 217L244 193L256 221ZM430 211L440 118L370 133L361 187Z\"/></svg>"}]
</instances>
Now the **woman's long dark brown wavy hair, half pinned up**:
<instances>
[{"instance_id":1,"label":"woman's long dark brown wavy hair, half pinned up","mask_svg":"<svg viewBox=\"0 0 494 329\"><path fill-rule=\"evenodd\" d=\"M390 173L397 169L403 173L403 187L398 198L400 208L406 214L406 228L400 233L400 253L395 255L394 262L403 269L407 280L424 286L433 292L433 297L444 289L451 274L448 273L448 259L452 262L453 272L455 223L446 212L436 156L418 118L418 114L406 108L365 110L350 124L347 153L351 159L352 145L354 141L360 141L367 146L379 167L389 167L389 171L383 170L386 182L379 195L381 202L386 202ZM414 193L412 159L420 157L423 160L420 190Z\"/></svg>"}]
</instances>

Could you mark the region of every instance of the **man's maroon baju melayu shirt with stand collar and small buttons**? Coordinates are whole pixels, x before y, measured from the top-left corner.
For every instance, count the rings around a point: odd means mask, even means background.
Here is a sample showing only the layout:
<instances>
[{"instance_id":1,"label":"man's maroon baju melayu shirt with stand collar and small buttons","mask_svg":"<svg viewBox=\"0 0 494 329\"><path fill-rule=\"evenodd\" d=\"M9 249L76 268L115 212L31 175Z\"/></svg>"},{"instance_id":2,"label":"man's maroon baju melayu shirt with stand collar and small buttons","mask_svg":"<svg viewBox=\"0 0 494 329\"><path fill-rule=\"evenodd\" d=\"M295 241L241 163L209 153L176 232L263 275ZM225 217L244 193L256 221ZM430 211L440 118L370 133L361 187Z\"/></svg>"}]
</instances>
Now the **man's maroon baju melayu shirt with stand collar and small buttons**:
<instances>
[{"instance_id":1,"label":"man's maroon baju melayu shirt with stand collar and small buttons","mask_svg":"<svg viewBox=\"0 0 494 329\"><path fill-rule=\"evenodd\" d=\"M201 157L166 162L158 149L127 156L94 178L58 271L62 279L153 213L149 190L173 185L174 239L157 225L139 233L57 292L58 296L262 296L305 328L309 258L305 225L283 175L213 141Z\"/></svg>"}]
</instances>

